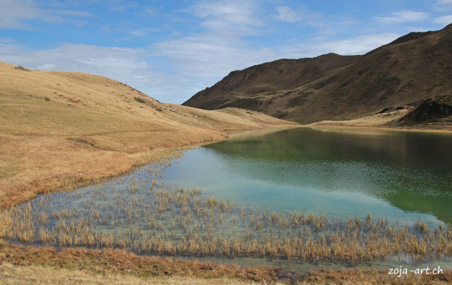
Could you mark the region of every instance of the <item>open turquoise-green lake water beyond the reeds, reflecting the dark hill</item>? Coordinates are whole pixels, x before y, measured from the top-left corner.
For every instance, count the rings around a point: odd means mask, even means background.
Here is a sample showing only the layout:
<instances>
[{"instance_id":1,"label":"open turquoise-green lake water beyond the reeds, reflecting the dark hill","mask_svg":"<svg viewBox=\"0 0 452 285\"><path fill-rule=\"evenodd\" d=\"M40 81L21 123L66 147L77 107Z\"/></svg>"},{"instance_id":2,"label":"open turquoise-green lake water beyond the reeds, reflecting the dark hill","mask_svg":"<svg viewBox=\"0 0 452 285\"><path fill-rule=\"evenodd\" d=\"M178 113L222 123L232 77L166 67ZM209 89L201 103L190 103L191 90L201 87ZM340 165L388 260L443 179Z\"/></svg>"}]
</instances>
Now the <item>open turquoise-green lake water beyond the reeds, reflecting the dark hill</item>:
<instances>
[{"instance_id":1,"label":"open turquoise-green lake water beyond the reeds, reflecting the dark hill","mask_svg":"<svg viewBox=\"0 0 452 285\"><path fill-rule=\"evenodd\" d=\"M452 135L293 128L185 152L165 182L243 206L452 223Z\"/></svg>"}]
</instances>

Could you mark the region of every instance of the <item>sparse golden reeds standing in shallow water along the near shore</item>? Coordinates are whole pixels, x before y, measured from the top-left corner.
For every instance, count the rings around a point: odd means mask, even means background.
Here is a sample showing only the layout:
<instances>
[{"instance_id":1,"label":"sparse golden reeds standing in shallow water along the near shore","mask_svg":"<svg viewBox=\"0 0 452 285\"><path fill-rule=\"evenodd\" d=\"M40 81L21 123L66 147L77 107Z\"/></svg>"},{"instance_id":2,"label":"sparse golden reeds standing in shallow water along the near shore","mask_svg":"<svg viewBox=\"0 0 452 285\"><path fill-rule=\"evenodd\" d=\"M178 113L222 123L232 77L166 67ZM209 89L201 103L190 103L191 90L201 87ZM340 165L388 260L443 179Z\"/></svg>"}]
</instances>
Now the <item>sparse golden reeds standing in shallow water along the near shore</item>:
<instances>
[{"instance_id":1,"label":"sparse golden reeds standing in shallow water along the near shore","mask_svg":"<svg viewBox=\"0 0 452 285\"><path fill-rule=\"evenodd\" d=\"M0 212L0 240L138 254L349 264L452 257L451 225L431 227L418 221L401 227L371 214L330 219L312 212L257 211L165 184L165 168L171 163L161 155L112 182L40 195L5 209Z\"/></svg>"}]
</instances>

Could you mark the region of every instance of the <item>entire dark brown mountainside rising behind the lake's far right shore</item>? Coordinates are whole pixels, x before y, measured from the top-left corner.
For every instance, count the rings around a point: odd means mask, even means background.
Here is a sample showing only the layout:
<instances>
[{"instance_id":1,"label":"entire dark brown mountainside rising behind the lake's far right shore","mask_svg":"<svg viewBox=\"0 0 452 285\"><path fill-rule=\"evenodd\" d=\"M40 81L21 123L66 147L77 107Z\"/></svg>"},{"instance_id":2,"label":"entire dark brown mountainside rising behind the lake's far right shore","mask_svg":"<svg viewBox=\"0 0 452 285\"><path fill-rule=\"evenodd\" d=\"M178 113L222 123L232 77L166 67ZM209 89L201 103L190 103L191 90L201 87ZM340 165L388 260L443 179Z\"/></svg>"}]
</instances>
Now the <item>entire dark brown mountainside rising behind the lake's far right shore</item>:
<instances>
[{"instance_id":1,"label":"entire dark brown mountainside rising behind the lake's far right shore","mask_svg":"<svg viewBox=\"0 0 452 285\"><path fill-rule=\"evenodd\" d=\"M299 123L350 120L451 93L451 72L452 24L363 56L329 53L233 71L183 105L246 108Z\"/></svg>"}]
</instances>

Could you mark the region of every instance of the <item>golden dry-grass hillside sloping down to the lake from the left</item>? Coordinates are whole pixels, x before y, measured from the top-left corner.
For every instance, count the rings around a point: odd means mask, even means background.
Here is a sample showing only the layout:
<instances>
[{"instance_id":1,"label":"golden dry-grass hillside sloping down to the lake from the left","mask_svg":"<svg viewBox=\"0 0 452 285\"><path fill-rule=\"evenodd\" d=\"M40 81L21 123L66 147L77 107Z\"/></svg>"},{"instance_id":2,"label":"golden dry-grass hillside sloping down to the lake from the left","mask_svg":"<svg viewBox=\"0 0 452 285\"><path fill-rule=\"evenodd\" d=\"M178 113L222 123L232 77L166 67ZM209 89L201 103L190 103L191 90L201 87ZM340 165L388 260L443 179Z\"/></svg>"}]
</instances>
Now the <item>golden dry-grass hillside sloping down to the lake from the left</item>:
<instances>
[{"instance_id":1,"label":"golden dry-grass hillside sloping down to the lake from the left","mask_svg":"<svg viewBox=\"0 0 452 285\"><path fill-rule=\"evenodd\" d=\"M287 124L235 108L160 103L102 76L0 63L0 208L126 172L153 150Z\"/></svg>"}]
</instances>

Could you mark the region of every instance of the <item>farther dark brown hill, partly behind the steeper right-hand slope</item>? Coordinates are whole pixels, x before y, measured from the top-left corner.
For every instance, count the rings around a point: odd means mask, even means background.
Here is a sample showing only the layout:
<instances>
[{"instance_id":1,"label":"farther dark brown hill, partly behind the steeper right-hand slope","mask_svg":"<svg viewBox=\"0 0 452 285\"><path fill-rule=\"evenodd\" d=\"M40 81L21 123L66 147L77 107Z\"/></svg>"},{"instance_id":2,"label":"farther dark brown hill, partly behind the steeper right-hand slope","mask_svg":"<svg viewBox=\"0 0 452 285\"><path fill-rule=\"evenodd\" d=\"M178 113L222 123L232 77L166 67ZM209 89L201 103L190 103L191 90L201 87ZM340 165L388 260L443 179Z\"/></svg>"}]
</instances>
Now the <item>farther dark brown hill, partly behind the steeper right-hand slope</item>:
<instances>
[{"instance_id":1,"label":"farther dark brown hill, partly behind the steeper right-hand slope","mask_svg":"<svg viewBox=\"0 0 452 285\"><path fill-rule=\"evenodd\" d=\"M237 108L266 110L279 91L297 88L344 67L358 56L328 53L317 58L280 59L232 71L211 88L200 91L183 105L207 110L234 105Z\"/></svg>"}]
</instances>

